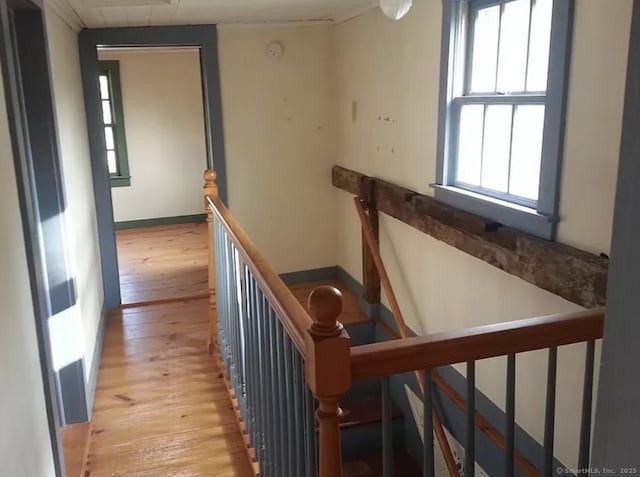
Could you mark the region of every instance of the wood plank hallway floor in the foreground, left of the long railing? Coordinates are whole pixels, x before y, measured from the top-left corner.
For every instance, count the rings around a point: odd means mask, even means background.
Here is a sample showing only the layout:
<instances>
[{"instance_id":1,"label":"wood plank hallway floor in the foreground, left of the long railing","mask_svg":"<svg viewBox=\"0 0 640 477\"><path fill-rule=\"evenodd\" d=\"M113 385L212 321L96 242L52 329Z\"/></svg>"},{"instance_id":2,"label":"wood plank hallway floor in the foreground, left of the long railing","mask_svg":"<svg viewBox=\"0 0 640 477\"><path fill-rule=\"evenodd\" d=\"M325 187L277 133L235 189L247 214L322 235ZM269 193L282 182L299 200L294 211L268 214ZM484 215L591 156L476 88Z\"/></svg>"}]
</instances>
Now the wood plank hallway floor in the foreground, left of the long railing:
<instances>
[{"instance_id":1,"label":"wood plank hallway floor in the foreground, left of the long railing","mask_svg":"<svg viewBox=\"0 0 640 477\"><path fill-rule=\"evenodd\" d=\"M110 318L85 477L253 475L207 336L204 299Z\"/></svg>"}]
</instances>

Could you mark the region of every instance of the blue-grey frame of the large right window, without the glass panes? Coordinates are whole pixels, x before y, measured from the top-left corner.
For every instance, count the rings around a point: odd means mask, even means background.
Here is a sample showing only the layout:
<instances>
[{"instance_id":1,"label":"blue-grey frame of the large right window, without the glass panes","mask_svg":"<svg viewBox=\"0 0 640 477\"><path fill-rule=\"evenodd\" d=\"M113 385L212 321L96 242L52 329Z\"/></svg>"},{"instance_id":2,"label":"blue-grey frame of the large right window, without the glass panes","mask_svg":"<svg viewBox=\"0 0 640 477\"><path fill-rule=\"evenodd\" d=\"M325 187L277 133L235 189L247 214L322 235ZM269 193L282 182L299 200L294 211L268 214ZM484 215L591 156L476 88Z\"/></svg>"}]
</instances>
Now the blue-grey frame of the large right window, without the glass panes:
<instances>
[{"instance_id":1,"label":"blue-grey frame of the large right window, without the glass panes","mask_svg":"<svg viewBox=\"0 0 640 477\"><path fill-rule=\"evenodd\" d=\"M545 239L555 239L558 223L560 180L564 150L564 124L569 79L574 0L554 0L547 90L513 95L486 95L466 90L470 75L470 40L473 31L462 19L472 8L486 8L514 0L443 0L440 60L440 100L438 107L438 147L435 198L453 207ZM468 16L467 18L470 18ZM461 28L463 25L463 28ZM462 58L461 58L462 55ZM462 88L460 78L464 78ZM456 91L462 90L462 95ZM488 191L455 181L459 111L462 104L545 105L542 158L538 200Z\"/></svg>"}]
</instances>

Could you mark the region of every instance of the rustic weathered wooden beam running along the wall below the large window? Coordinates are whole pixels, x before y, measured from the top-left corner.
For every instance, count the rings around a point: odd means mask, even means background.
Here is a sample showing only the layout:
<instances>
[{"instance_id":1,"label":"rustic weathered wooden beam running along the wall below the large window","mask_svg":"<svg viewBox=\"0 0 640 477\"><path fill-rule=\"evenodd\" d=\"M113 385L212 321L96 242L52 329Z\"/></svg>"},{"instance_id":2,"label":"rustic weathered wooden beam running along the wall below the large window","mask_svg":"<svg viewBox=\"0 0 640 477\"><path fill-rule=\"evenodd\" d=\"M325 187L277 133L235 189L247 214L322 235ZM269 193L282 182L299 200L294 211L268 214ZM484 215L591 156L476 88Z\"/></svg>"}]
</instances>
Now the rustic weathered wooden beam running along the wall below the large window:
<instances>
[{"instance_id":1,"label":"rustic weathered wooden beam running along the wall below the large window","mask_svg":"<svg viewBox=\"0 0 640 477\"><path fill-rule=\"evenodd\" d=\"M333 185L355 195L369 176L333 167ZM544 240L375 179L377 209L458 250L585 308L606 302L606 257Z\"/></svg>"}]
</instances>

